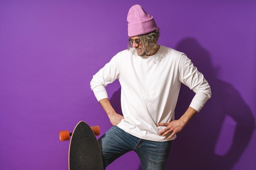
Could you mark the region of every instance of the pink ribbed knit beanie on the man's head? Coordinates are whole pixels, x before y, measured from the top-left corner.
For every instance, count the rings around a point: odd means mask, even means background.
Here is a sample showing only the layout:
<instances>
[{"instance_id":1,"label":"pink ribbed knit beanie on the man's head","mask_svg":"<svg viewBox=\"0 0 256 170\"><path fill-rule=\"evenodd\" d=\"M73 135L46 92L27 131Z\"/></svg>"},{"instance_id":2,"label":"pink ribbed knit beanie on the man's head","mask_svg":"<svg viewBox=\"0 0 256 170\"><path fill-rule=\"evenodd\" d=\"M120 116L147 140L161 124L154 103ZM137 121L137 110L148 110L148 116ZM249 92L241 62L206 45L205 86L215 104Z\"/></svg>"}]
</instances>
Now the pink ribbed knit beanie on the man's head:
<instances>
[{"instance_id":1,"label":"pink ribbed knit beanie on the man's head","mask_svg":"<svg viewBox=\"0 0 256 170\"><path fill-rule=\"evenodd\" d=\"M134 5L130 8L127 21L129 37L147 34L157 29L154 18L146 13L140 5Z\"/></svg>"}]
</instances>

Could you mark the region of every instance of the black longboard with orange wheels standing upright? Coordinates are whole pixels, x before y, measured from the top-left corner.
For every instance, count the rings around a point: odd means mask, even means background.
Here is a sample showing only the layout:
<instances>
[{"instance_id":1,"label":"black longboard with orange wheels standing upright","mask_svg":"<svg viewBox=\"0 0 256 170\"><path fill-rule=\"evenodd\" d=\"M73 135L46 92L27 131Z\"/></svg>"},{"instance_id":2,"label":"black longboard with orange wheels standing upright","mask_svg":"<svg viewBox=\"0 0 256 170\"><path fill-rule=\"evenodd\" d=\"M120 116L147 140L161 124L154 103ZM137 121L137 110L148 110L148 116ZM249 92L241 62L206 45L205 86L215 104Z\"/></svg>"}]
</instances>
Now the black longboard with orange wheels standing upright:
<instances>
[{"instance_id":1,"label":"black longboard with orange wheels standing upright","mask_svg":"<svg viewBox=\"0 0 256 170\"><path fill-rule=\"evenodd\" d=\"M61 141L70 138L69 170L103 170L103 162L99 143L95 135L99 135L99 126L90 127L87 123L79 122L73 133L60 131Z\"/></svg>"}]
</instances>

